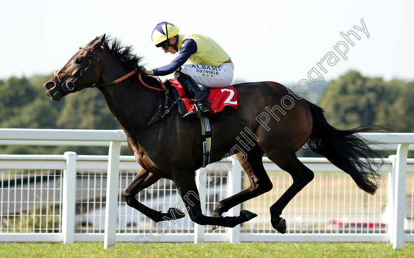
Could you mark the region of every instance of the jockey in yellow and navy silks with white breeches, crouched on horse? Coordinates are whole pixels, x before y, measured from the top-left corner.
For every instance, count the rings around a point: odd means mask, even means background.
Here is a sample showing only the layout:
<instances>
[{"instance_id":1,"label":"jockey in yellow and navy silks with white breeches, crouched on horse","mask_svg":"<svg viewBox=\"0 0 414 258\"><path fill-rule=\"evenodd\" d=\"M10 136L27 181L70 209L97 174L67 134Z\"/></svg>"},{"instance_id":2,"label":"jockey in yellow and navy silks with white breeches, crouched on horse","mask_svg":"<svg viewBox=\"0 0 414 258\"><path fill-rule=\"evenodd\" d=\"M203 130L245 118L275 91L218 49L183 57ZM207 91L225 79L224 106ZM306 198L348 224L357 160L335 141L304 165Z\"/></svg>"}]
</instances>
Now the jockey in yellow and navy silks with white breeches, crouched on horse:
<instances>
[{"instance_id":1,"label":"jockey in yellow and navy silks with white breeches, crouched on horse","mask_svg":"<svg viewBox=\"0 0 414 258\"><path fill-rule=\"evenodd\" d=\"M184 115L185 120L194 119L197 111L208 116L211 111L206 101L206 91L197 84L210 88L224 88L233 80L234 65L230 56L209 36L201 33L179 35L179 29L172 23L159 23L152 32L152 45L161 47L165 53L178 56L169 65L144 72L148 75L167 75L181 84L195 109ZM189 64L184 65L188 61Z\"/></svg>"}]
</instances>

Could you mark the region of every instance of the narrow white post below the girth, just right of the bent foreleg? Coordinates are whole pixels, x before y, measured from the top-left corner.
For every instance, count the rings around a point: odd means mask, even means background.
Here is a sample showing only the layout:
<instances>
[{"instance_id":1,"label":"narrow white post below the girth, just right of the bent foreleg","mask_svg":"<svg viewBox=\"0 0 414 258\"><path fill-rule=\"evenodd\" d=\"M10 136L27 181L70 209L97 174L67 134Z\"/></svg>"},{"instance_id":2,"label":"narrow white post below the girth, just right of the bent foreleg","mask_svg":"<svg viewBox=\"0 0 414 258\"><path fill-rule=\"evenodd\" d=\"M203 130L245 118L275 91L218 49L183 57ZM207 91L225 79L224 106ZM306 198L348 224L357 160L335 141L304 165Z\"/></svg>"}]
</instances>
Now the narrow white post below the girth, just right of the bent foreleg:
<instances>
[{"instance_id":1,"label":"narrow white post below the girth, just right of the bent foreleg","mask_svg":"<svg viewBox=\"0 0 414 258\"><path fill-rule=\"evenodd\" d=\"M200 197L200 204L201 204L201 211L204 215L206 215L206 192L207 192L207 168L204 168L203 172L201 171L203 168L200 168L196 171L196 184L197 189L199 191ZM194 224L194 243L204 243L204 226Z\"/></svg>"}]
</instances>

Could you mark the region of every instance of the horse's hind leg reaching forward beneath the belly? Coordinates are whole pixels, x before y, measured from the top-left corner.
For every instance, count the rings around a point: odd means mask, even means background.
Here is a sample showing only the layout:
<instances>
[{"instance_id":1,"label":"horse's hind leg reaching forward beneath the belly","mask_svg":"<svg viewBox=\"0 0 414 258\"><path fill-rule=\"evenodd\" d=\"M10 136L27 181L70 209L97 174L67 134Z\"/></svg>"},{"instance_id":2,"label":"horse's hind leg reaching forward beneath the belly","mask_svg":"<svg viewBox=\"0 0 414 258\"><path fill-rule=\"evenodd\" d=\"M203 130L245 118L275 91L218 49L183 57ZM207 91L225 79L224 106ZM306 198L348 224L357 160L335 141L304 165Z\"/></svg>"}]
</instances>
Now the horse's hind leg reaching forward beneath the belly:
<instances>
[{"instance_id":1,"label":"horse's hind leg reaching forward beneath the belly","mask_svg":"<svg viewBox=\"0 0 414 258\"><path fill-rule=\"evenodd\" d=\"M221 214L229 211L232 207L272 190L272 181L270 181L263 167L263 151L250 152L245 155L247 158L244 162L240 162L240 164L249 177L250 187L238 194L219 201L212 213L213 217L221 216Z\"/></svg>"}]
</instances>

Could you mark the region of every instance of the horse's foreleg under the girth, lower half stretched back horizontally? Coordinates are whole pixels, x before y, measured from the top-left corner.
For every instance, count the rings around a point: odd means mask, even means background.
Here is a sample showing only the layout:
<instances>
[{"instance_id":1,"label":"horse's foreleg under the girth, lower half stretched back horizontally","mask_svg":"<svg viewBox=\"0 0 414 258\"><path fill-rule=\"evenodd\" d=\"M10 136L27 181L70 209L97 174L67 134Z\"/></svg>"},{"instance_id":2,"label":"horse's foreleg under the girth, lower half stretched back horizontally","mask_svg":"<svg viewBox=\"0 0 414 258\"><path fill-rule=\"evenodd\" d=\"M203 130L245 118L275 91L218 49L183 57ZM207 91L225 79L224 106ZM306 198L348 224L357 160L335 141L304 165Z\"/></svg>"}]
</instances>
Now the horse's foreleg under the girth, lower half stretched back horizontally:
<instances>
[{"instance_id":1,"label":"horse's foreleg under the girth, lower half stretched back horizontally","mask_svg":"<svg viewBox=\"0 0 414 258\"><path fill-rule=\"evenodd\" d=\"M173 174L173 179L191 220L199 225L235 227L255 217L255 214L247 210L242 210L240 215L235 217L206 216L201 210L200 195L194 180L194 172L183 173L180 171Z\"/></svg>"}]
</instances>

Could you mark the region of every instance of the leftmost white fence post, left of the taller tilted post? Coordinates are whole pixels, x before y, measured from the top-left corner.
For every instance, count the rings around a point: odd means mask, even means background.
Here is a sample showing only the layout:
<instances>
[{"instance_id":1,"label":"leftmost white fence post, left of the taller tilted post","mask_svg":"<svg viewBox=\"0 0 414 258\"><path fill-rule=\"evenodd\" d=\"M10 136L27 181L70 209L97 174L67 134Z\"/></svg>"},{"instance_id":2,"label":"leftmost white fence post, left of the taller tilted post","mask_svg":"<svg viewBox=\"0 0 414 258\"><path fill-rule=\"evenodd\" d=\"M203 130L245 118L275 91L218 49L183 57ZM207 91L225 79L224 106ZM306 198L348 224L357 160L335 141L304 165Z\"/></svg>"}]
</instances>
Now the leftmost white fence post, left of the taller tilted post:
<instances>
[{"instance_id":1,"label":"leftmost white fence post, left of the taller tilted post","mask_svg":"<svg viewBox=\"0 0 414 258\"><path fill-rule=\"evenodd\" d=\"M62 234L63 243L72 244L75 232L76 153L65 152L66 168L63 171Z\"/></svg>"}]
</instances>

